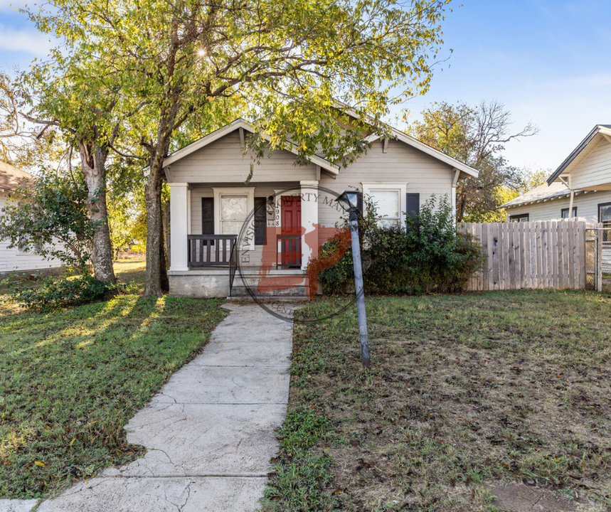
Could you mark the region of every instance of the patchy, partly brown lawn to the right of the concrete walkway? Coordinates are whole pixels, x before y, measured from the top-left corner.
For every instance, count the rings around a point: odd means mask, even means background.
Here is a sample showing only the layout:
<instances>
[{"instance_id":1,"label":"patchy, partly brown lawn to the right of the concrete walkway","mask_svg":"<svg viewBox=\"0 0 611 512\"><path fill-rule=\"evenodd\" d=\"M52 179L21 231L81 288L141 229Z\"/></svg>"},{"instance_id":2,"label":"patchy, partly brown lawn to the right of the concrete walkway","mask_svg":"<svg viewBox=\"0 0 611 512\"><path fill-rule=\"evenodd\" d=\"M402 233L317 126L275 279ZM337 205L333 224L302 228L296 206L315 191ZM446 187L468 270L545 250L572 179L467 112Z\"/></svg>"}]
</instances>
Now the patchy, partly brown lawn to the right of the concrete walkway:
<instances>
[{"instance_id":1,"label":"patchy, partly brown lawn to the right of the concrete walkway","mask_svg":"<svg viewBox=\"0 0 611 512\"><path fill-rule=\"evenodd\" d=\"M356 308L295 324L265 511L494 511L487 484L515 481L611 507L611 297L376 297L367 313L369 371Z\"/></svg>"}]
</instances>

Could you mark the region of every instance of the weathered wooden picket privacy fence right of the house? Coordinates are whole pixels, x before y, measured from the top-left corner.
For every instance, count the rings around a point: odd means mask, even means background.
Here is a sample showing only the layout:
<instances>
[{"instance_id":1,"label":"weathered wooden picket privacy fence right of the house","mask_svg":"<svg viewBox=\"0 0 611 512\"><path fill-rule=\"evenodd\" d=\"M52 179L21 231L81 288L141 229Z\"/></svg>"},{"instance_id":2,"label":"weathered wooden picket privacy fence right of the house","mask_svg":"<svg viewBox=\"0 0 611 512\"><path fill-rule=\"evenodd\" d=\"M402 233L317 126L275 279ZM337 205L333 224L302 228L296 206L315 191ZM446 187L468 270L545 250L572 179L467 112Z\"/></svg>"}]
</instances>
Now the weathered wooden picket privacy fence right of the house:
<instances>
[{"instance_id":1,"label":"weathered wooden picket privacy fence right of the house","mask_svg":"<svg viewBox=\"0 0 611 512\"><path fill-rule=\"evenodd\" d=\"M586 226L583 221L462 223L484 248L484 268L467 289L585 289L588 282ZM592 269L594 272L594 269Z\"/></svg>"}]
</instances>

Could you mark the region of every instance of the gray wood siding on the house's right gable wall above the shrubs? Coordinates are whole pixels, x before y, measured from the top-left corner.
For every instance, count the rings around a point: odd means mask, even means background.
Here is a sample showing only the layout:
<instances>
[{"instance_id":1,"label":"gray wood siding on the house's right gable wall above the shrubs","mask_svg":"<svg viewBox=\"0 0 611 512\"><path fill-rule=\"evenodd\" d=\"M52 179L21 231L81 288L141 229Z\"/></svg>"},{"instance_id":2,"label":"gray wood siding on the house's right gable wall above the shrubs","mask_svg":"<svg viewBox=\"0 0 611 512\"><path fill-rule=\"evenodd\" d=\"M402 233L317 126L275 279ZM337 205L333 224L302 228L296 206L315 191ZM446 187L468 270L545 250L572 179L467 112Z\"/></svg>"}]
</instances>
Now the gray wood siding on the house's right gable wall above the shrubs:
<instances>
[{"instance_id":1,"label":"gray wood siding on the house's right gable wall above the shrubs","mask_svg":"<svg viewBox=\"0 0 611 512\"><path fill-rule=\"evenodd\" d=\"M341 193L354 187L362 191L361 183L406 183L407 193L420 193L422 208L433 194L436 198L447 194L448 201L452 200L452 177L452 168L432 156L396 140L388 142L384 153L378 140L367 154L340 169L336 179L321 174L320 186ZM340 220L342 213L320 203L318 215L319 223L330 227Z\"/></svg>"}]
</instances>

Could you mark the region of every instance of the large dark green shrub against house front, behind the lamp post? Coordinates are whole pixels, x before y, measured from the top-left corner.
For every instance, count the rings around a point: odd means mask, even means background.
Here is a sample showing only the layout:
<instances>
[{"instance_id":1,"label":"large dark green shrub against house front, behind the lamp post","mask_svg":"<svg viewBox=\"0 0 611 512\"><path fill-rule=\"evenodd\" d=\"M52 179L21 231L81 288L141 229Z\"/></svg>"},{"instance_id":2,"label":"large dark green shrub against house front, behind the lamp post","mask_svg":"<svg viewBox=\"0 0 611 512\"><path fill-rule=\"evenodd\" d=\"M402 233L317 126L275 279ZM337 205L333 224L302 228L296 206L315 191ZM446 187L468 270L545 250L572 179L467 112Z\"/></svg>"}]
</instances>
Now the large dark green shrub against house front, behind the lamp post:
<instances>
[{"instance_id":1,"label":"large dark green shrub against house front, behind the lamp post","mask_svg":"<svg viewBox=\"0 0 611 512\"><path fill-rule=\"evenodd\" d=\"M375 207L368 204L366 211L359 219L366 292L459 292L482 265L482 247L472 235L457 230L447 198L436 204L433 196L403 225L382 228ZM334 243L323 245L323 252L332 250ZM325 294L351 292L353 283L350 250L336 265L319 272Z\"/></svg>"}]
</instances>

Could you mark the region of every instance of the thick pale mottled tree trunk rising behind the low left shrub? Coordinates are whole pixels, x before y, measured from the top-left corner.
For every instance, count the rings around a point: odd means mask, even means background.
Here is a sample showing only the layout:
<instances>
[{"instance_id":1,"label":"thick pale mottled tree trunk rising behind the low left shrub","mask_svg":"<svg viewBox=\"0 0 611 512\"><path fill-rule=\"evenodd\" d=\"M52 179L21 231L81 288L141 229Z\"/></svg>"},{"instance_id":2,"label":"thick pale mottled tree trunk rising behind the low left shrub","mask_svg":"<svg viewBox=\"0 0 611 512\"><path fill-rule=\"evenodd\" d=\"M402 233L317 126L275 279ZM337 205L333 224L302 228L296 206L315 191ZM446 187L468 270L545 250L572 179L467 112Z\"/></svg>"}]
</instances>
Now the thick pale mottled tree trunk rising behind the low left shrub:
<instances>
[{"instance_id":1,"label":"thick pale mottled tree trunk rising behind the low left shrub","mask_svg":"<svg viewBox=\"0 0 611 512\"><path fill-rule=\"evenodd\" d=\"M87 212L92 224L93 247L91 262L95 279L115 284L115 270L112 267L112 244L108 228L106 206L106 156L97 144L78 142L81 169L87 183Z\"/></svg>"}]
</instances>

